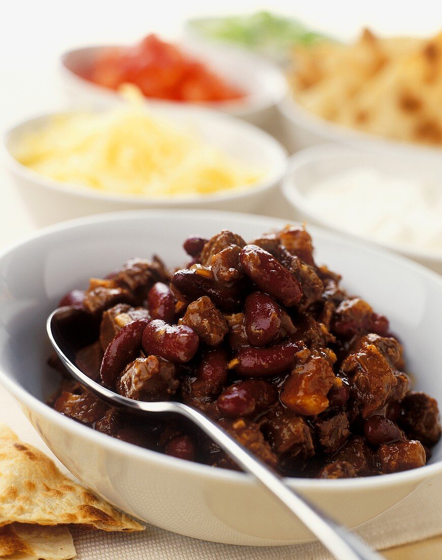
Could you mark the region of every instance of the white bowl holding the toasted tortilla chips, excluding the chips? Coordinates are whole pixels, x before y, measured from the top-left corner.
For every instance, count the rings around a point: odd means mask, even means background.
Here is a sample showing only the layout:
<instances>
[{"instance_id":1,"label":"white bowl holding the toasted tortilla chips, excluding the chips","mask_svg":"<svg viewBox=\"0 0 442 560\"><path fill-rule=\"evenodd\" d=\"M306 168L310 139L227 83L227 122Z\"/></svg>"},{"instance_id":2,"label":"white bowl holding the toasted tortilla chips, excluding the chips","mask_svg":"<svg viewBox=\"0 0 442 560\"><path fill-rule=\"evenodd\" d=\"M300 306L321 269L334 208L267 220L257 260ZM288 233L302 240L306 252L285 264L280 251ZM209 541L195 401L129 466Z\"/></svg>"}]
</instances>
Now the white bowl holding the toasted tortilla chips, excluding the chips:
<instances>
[{"instance_id":1,"label":"white bowl holding the toasted tortilla chips, excluding the chips","mask_svg":"<svg viewBox=\"0 0 442 560\"><path fill-rule=\"evenodd\" d=\"M281 126L283 127L284 145L290 153L325 142L344 142L377 152L389 150L393 153L406 153L411 156L421 153L436 158L440 158L442 155L442 150L437 147L400 142L332 123L304 109L291 95L285 96L279 102L278 110L283 117Z\"/></svg>"}]
</instances>

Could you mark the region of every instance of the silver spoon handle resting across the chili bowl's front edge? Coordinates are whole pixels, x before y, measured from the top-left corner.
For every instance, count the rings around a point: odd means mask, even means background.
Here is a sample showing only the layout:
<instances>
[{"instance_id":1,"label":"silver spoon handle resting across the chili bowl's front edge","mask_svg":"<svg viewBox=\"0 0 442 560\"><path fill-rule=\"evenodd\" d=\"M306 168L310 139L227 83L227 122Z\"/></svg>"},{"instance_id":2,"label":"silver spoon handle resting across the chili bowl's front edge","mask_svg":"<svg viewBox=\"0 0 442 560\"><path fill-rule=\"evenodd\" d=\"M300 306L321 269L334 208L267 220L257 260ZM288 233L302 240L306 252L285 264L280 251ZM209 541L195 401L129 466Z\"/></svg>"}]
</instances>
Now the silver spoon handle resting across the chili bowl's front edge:
<instances>
[{"instance_id":1,"label":"silver spoon handle resting across the chili bowl's front edge","mask_svg":"<svg viewBox=\"0 0 442 560\"><path fill-rule=\"evenodd\" d=\"M204 430L239 466L253 474L293 514L299 517L335 558L338 560L379 560L383 558L377 552L370 550L358 537L317 510L306 498L291 490L278 474L272 472L204 414L186 405L181 405L180 409L181 414L190 418Z\"/></svg>"}]
</instances>

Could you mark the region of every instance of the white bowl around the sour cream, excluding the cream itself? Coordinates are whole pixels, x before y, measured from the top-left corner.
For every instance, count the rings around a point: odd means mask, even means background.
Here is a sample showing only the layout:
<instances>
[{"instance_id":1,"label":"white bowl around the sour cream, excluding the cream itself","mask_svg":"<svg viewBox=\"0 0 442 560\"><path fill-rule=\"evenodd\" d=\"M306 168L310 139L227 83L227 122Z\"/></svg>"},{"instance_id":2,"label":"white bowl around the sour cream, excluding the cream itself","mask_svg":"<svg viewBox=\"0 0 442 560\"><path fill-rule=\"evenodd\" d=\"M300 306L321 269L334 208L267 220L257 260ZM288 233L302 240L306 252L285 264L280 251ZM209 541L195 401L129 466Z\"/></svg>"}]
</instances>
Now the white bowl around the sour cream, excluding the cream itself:
<instances>
[{"instance_id":1,"label":"white bowl around the sour cream, excluding the cream itself","mask_svg":"<svg viewBox=\"0 0 442 560\"><path fill-rule=\"evenodd\" d=\"M363 238L354 234L345 226L339 227L335 222L318 216L312 204L305 197L308 190L317 181L359 168L374 169L382 175L398 179L410 180L415 178L418 183L422 180L428 180L430 183L436 182L436 184L441 183L442 176L442 161L440 158L435 158L427 153L407 154L385 151L374 153L370 150L338 143L305 148L289 158L288 171L282 183L283 194L296 211L294 217L297 220L307 220L309 223L329 227L346 235L353 235L358 239L377 242L379 245L398 251L442 274L442 251L408 248L406 245L389 242L388 239L380 244L375 239ZM440 186L442 188L442 184ZM344 200L343 203L345 203ZM379 204L382 203L383 201L379 200ZM361 211L363 211L362 208L355 208L355 213Z\"/></svg>"}]
</instances>

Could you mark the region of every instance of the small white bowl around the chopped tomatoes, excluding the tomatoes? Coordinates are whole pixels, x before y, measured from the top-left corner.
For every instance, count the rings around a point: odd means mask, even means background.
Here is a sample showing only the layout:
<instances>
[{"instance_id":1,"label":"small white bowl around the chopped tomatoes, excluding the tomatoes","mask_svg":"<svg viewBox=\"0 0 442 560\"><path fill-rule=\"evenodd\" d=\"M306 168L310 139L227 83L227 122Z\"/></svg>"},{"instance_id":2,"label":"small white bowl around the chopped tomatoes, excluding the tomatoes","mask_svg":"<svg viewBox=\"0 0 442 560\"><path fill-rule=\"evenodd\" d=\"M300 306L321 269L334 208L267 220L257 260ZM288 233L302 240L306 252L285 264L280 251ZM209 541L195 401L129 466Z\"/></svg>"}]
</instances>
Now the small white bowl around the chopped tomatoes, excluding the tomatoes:
<instances>
[{"instance_id":1,"label":"small white bowl around the chopped tomatoes, excluding the tomatoes","mask_svg":"<svg viewBox=\"0 0 442 560\"><path fill-rule=\"evenodd\" d=\"M88 46L69 50L62 55L59 65L62 85L74 106L91 104L102 108L121 100L117 92L79 76L79 72L90 68L97 55L110 46L112 45ZM181 41L178 46L246 93L244 99L206 102L198 106L239 116L262 128L269 127L271 121L278 116L276 104L287 91L284 74L278 67L256 55L229 46L214 46L196 40ZM149 104L157 101L147 98ZM177 105L183 104L194 105L177 102Z\"/></svg>"}]
</instances>

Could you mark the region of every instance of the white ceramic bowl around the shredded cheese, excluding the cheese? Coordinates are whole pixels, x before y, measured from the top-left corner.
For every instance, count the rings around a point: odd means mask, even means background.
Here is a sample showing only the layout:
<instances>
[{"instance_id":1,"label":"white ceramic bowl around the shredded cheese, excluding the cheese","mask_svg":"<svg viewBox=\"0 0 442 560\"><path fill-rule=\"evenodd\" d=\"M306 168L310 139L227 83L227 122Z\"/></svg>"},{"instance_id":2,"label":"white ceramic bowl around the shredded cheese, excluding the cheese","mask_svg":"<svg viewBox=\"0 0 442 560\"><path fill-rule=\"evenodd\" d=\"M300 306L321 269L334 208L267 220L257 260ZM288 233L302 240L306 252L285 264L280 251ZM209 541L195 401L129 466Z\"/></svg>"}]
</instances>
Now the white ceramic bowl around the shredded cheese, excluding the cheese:
<instances>
[{"instance_id":1,"label":"white ceramic bowl around the shredded cheese, excluding the cheese","mask_svg":"<svg viewBox=\"0 0 442 560\"><path fill-rule=\"evenodd\" d=\"M86 186L59 183L28 169L13 157L14 146L20 142L22 134L41 127L53 115L37 116L8 130L3 142L7 168L37 226L137 208L208 208L258 213L272 203L284 176L287 158L285 149L269 134L233 116L194 106L165 103L152 106L150 111L198 133L211 145L253 169L262 170L264 175L256 184L243 188L204 196L155 199L102 193Z\"/></svg>"}]
</instances>

